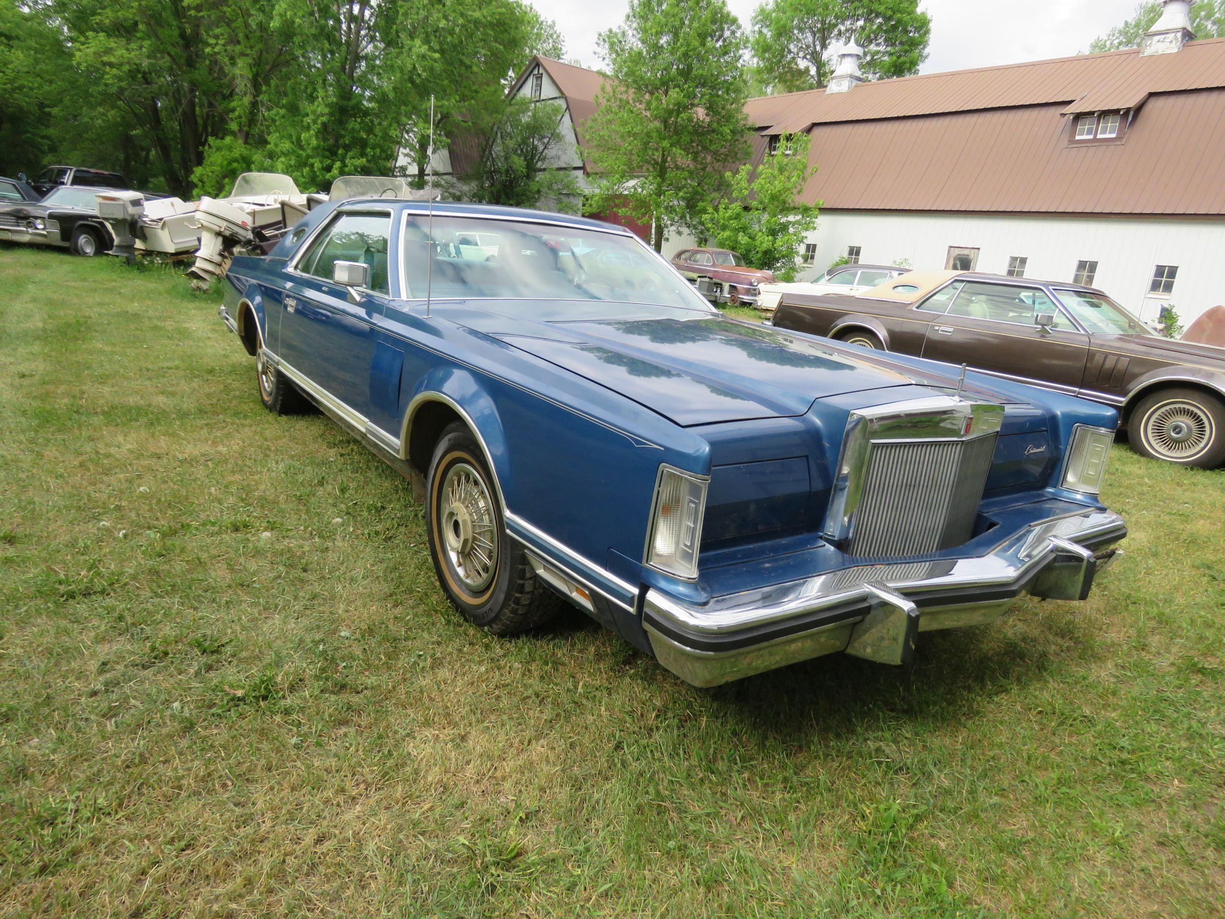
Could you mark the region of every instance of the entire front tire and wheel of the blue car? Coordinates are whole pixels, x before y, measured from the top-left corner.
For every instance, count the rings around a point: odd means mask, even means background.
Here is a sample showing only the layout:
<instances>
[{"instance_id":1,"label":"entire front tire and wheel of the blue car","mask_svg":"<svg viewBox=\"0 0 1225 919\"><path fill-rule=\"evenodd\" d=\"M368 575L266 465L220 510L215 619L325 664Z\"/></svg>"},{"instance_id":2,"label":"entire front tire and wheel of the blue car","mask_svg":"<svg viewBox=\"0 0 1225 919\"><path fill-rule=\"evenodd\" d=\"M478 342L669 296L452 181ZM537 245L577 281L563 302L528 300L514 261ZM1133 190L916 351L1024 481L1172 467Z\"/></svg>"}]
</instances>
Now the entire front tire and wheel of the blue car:
<instances>
[{"instance_id":1,"label":"entire front tire and wheel of the blue car","mask_svg":"<svg viewBox=\"0 0 1225 919\"><path fill-rule=\"evenodd\" d=\"M425 495L434 571L464 619L492 635L552 619L562 600L537 580L527 553L507 534L494 477L463 423L439 439Z\"/></svg>"}]
</instances>

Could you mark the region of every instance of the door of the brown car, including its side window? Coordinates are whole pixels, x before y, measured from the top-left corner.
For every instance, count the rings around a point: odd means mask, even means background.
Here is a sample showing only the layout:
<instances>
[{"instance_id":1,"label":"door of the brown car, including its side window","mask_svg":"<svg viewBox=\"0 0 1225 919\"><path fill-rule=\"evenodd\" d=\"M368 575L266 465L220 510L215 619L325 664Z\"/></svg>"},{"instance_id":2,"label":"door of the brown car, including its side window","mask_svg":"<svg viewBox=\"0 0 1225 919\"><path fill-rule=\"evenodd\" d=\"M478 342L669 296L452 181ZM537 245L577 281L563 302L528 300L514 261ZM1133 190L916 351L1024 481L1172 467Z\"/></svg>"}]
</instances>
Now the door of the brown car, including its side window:
<instances>
[{"instance_id":1,"label":"door of the brown car, including its side window","mask_svg":"<svg viewBox=\"0 0 1225 919\"><path fill-rule=\"evenodd\" d=\"M1038 325L1040 314L1054 325ZM1089 336L1041 288L987 281L960 284L922 348L925 358L1065 392L1079 387L1088 353Z\"/></svg>"}]
</instances>

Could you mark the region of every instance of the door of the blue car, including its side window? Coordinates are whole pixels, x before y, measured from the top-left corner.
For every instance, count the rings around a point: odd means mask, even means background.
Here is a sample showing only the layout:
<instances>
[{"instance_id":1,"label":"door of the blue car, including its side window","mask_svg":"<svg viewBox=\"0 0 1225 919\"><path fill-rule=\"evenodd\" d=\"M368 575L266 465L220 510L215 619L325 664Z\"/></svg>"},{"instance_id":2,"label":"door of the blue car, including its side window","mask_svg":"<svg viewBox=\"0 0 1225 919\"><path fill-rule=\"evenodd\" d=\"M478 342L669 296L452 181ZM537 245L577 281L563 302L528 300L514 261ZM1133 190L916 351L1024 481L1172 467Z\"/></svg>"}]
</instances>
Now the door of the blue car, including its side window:
<instances>
[{"instance_id":1,"label":"door of the blue car, including its side window","mask_svg":"<svg viewBox=\"0 0 1225 919\"><path fill-rule=\"evenodd\" d=\"M375 321L391 295L391 211L353 208L337 213L285 270L281 359L328 396L361 415L371 404ZM336 283L336 262L370 266L368 287Z\"/></svg>"}]
</instances>

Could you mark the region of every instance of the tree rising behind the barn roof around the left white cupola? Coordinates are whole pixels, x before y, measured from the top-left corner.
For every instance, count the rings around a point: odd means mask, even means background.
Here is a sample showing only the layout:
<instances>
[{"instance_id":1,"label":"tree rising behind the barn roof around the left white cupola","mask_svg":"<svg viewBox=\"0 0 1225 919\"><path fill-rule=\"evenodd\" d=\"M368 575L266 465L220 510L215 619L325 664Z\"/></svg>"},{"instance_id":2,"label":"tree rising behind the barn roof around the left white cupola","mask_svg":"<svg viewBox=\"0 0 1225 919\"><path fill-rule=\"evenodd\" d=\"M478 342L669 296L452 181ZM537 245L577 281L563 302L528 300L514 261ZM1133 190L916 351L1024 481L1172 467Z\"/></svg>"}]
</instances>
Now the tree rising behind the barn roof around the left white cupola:
<instances>
[{"instance_id":1,"label":"tree rising behind the barn roof around the left white cupola","mask_svg":"<svg viewBox=\"0 0 1225 919\"><path fill-rule=\"evenodd\" d=\"M768 0L753 13L753 58L775 92L826 86L851 39L869 78L910 76L927 60L931 17L919 0Z\"/></svg>"}]
</instances>

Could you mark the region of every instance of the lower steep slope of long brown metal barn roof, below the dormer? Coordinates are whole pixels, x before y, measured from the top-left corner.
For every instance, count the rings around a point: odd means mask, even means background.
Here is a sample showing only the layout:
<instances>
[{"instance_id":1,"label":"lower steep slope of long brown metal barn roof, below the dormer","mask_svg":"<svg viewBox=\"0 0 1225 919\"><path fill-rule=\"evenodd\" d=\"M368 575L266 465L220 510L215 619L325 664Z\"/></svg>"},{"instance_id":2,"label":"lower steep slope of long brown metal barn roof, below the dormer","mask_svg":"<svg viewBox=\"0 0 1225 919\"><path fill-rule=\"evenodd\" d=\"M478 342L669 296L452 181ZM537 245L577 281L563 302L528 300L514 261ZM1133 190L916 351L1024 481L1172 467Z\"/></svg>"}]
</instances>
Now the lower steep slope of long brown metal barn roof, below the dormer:
<instances>
[{"instance_id":1,"label":"lower steep slope of long brown metal barn roof, below the dormer","mask_svg":"<svg viewBox=\"0 0 1225 919\"><path fill-rule=\"evenodd\" d=\"M855 211L1225 214L1225 89L1154 96L1116 142L1072 141L1062 108L818 125L804 197Z\"/></svg>"}]
</instances>

